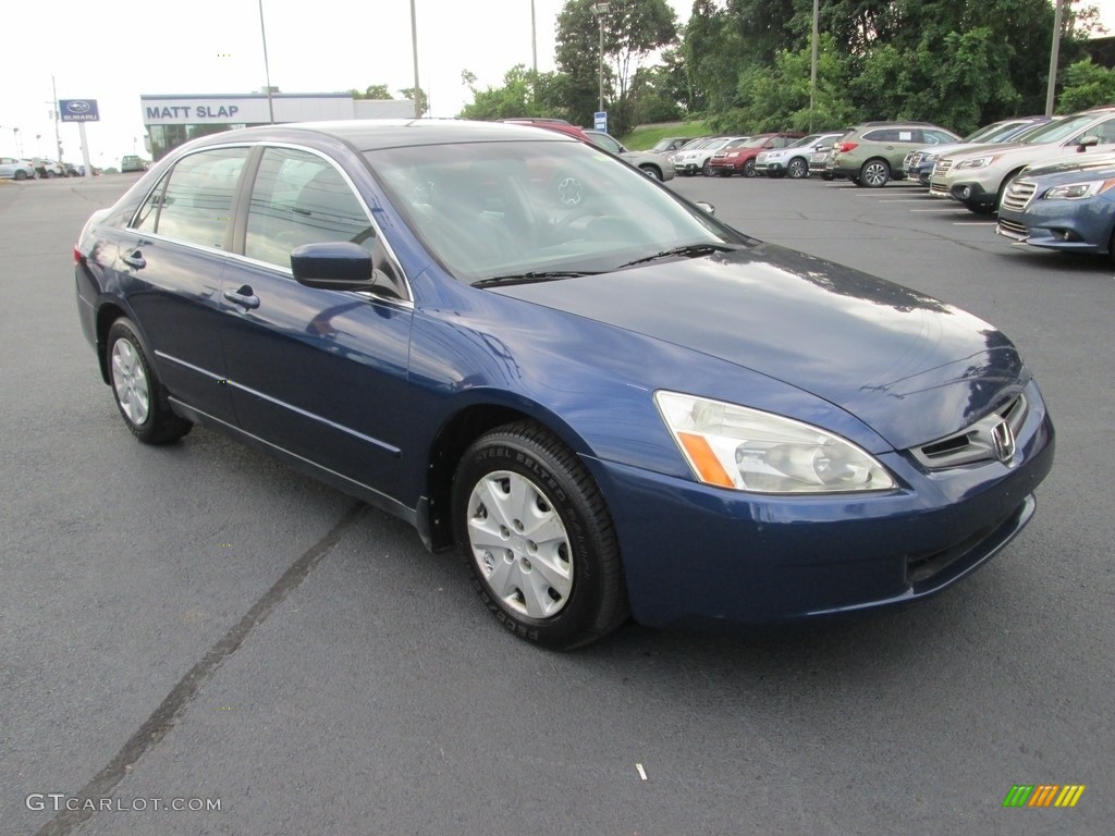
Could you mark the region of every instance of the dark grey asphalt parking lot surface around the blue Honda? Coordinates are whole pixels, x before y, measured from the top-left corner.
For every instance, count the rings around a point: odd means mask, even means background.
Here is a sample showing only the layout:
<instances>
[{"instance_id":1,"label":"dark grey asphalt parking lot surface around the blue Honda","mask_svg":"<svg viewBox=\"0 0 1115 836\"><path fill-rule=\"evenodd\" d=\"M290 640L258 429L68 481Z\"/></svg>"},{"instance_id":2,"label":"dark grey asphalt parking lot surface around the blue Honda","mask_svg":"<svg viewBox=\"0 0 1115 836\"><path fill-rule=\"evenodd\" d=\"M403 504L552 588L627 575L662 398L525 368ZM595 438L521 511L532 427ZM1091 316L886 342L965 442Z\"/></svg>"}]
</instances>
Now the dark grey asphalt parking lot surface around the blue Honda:
<instances>
[{"instance_id":1,"label":"dark grey asphalt parking lot surface around the blue Honda","mask_svg":"<svg viewBox=\"0 0 1115 836\"><path fill-rule=\"evenodd\" d=\"M0 833L1109 832L1111 264L903 184L673 181L1002 328L1057 461L1030 526L918 607L555 654L406 525L206 430L134 441L70 251L135 178L0 186ZM1086 789L1004 808L1015 785Z\"/></svg>"}]
</instances>

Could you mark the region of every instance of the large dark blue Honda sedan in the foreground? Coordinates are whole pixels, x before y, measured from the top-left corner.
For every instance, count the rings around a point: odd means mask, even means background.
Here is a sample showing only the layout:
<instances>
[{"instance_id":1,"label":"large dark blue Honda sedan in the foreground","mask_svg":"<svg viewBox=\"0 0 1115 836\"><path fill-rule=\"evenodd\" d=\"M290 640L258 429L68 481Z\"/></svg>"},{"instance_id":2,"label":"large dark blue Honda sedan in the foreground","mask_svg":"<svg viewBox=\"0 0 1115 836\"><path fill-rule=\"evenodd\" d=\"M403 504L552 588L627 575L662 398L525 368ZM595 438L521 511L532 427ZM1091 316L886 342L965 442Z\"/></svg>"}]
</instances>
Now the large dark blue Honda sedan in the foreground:
<instances>
[{"instance_id":1,"label":"large dark blue Honda sedan in the foreground","mask_svg":"<svg viewBox=\"0 0 1115 836\"><path fill-rule=\"evenodd\" d=\"M709 208L526 127L232 130L89 220L80 322L139 441L204 425L398 515L546 647L998 553L1054 456L1010 341Z\"/></svg>"}]
</instances>

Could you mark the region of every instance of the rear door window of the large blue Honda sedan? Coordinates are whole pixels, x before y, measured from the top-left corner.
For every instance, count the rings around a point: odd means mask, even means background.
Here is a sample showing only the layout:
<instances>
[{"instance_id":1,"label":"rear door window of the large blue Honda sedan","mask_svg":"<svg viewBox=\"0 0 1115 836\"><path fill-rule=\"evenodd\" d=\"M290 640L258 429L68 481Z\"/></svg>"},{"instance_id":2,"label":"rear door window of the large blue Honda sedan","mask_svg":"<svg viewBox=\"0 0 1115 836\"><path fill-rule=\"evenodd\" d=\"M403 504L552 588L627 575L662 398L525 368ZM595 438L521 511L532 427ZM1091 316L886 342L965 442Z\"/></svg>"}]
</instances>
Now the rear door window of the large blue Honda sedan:
<instances>
[{"instance_id":1,"label":"rear door window of the large blue Honda sedan","mask_svg":"<svg viewBox=\"0 0 1115 836\"><path fill-rule=\"evenodd\" d=\"M214 148L183 157L147 197L133 229L225 249L232 201L246 159L248 148Z\"/></svg>"}]
</instances>

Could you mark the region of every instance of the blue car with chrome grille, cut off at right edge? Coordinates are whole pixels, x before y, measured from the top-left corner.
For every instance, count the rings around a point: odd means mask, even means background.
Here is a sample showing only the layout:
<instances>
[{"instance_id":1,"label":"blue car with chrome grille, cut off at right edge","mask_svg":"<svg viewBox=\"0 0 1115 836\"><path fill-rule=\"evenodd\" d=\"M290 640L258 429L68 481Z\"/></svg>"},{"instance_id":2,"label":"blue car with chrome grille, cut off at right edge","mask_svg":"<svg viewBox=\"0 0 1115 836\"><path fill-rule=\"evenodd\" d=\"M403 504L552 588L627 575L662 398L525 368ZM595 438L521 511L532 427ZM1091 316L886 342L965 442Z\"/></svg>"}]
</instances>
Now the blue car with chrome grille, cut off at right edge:
<instances>
[{"instance_id":1,"label":"blue car with chrome grille, cut off at right edge","mask_svg":"<svg viewBox=\"0 0 1115 836\"><path fill-rule=\"evenodd\" d=\"M1000 235L1060 252L1115 257L1115 157L1028 168L999 206Z\"/></svg>"}]
</instances>

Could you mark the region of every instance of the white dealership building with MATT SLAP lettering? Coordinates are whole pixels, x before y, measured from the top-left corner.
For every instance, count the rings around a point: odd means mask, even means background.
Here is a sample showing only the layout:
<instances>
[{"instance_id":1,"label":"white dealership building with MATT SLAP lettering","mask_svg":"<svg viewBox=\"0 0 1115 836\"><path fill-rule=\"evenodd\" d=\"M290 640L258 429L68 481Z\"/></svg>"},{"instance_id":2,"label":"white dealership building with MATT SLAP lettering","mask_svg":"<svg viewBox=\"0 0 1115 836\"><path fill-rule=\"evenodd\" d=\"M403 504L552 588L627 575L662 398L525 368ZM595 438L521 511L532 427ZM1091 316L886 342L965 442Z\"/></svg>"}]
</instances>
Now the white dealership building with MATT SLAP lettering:
<instances>
[{"instance_id":1,"label":"white dealership building with MATT SLAP lettering","mask_svg":"<svg viewBox=\"0 0 1115 836\"><path fill-rule=\"evenodd\" d=\"M222 130L288 121L405 119L413 99L355 99L348 93L140 96L147 149L159 159L172 148ZM273 116L272 116L273 114Z\"/></svg>"}]
</instances>

